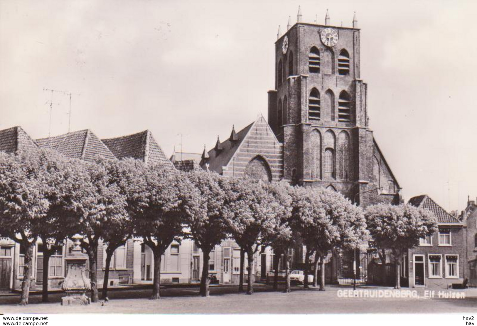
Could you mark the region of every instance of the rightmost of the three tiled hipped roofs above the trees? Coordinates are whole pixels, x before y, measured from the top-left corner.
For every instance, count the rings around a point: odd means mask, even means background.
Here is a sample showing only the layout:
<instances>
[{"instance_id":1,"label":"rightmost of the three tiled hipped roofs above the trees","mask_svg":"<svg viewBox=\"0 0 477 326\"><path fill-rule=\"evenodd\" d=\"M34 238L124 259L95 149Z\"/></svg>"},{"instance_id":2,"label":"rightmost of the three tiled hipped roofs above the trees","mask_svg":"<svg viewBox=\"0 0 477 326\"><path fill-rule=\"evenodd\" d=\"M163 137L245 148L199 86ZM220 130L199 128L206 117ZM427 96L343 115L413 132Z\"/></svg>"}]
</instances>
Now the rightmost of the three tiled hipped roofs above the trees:
<instances>
[{"instance_id":1,"label":"rightmost of the three tiled hipped roofs above the trees","mask_svg":"<svg viewBox=\"0 0 477 326\"><path fill-rule=\"evenodd\" d=\"M166 158L149 130L132 135L102 139L102 141L118 159L135 158L144 161L146 164L161 164L174 169L174 165Z\"/></svg>"}]
</instances>

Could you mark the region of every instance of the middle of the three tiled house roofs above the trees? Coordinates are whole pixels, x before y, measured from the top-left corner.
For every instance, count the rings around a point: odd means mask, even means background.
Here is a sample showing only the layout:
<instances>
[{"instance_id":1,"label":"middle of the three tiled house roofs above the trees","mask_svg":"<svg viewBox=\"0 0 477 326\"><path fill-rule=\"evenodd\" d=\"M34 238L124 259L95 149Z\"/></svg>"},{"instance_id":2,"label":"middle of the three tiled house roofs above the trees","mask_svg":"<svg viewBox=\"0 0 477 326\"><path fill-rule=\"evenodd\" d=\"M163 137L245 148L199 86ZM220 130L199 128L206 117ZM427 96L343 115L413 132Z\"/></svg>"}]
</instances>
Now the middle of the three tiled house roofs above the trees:
<instances>
[{"instance_id":1,"label":"middle of the three tiled house roofs above the trees","mask_svg":"<svg viewBox=\"0 0 477 326\"><path fill-rule=\"evenodd\" d=\"M67 158L93 161L97 156L116 159L113 153L89 129L36 140L39 147L51 148Z\"/></svg>"}]
</instances>

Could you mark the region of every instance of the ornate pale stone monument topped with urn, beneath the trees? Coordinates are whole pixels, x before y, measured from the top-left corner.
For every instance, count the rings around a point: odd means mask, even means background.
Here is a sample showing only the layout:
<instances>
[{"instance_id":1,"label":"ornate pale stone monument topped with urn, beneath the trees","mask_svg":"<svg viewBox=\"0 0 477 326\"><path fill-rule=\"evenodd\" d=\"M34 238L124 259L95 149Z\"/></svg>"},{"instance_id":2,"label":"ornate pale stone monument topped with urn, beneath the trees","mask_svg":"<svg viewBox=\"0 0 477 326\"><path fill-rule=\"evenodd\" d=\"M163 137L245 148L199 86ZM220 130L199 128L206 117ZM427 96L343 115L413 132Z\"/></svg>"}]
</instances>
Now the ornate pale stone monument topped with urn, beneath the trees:
<instances>
[{"instance_id":1,"label":"ornate pale stone monument topped with urn, beneath the trees","mask_svg":"<svg viewBox=\"0 0 477 326\"><path fill-rule=\"evenodd\" d=\"M86 296L86 291L91 289L90 280L86 277L87 258L81 252L81 236L73 236L74 245L71 255L65 258L66 277L63 280L62 288L66 296L62 297L62 305L89 305L91 299Z\"/></svg>"}]
</instances>

